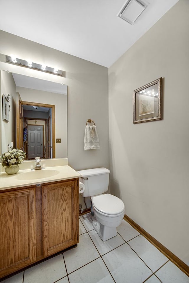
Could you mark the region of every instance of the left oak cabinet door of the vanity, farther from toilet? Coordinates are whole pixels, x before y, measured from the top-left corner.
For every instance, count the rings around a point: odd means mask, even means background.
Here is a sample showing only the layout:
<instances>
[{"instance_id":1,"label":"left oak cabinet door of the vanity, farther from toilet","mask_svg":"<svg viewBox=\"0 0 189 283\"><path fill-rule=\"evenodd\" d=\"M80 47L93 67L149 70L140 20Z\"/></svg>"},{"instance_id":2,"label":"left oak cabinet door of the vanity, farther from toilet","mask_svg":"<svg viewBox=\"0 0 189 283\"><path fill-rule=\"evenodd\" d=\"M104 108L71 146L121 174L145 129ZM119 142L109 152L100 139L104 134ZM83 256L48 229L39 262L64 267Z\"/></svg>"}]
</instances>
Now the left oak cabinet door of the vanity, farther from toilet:
<instances>
[{"instance_id":1,"label":"left oak cabinet door of the vanity, farther from toilet","mask_svg":"<svg viewBox=\"0 0 189 283\"><path fill-rule=\"evenodd\" d=\"M35 188L0 193L0 277L35 259Z\"/></svg>"}]
</instances>

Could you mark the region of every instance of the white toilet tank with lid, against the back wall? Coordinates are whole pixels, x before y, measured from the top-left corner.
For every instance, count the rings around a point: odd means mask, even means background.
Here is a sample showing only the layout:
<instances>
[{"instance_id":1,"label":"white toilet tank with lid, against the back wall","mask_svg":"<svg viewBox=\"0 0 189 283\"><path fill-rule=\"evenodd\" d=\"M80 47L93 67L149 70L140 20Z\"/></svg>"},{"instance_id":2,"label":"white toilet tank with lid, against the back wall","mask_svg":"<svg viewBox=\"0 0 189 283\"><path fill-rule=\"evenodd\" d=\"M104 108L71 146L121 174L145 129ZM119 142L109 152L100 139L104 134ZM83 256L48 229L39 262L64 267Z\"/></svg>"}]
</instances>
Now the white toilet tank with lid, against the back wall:
<instances>
[{"instance_id":1,"label":"white toilet tank with lid, against the back wall","mask_svg":"<svg viewBox=\"0 0 189 283\"><path fill-rule=\"evenodd\" d=\"M88 170L81 170L78 173L82 176L79 181L85 185L82 196L91 197L107 192L109 184L110 170L101 167Z\"/></svg>"}]
</instances>

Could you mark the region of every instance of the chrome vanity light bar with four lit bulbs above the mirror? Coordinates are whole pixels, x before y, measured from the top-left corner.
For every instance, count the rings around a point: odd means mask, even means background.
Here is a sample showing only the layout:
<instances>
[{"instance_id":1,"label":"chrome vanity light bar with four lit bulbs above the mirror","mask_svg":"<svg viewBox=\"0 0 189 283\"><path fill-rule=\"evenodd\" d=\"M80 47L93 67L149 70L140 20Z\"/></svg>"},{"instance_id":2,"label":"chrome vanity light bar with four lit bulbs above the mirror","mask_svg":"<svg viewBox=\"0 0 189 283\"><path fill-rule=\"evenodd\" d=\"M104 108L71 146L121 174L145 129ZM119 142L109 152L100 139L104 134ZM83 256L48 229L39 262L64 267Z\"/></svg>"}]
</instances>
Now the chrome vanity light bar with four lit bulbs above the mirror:
<instances>
[{"instance_id":1,"label":"chrome vanity light bar with four lit bulbs above the mirror","mask_svg":"<svg viewBox=\"0 0 189 283\"><path fill-rule=\"evenodd\" d=\"M65 71L59 70L58 68L51 68L51 67L45 66L45 64L37 64L37 63L32 62L31 60L27 60L27 61L22 60L22 59L16 58L15 55L11 55L11 56L5 55L5 60L6 62L9 62L11 64L14 63L15 65L19 65L22 67L66 77Z\"/></svg>"}]
</instances>

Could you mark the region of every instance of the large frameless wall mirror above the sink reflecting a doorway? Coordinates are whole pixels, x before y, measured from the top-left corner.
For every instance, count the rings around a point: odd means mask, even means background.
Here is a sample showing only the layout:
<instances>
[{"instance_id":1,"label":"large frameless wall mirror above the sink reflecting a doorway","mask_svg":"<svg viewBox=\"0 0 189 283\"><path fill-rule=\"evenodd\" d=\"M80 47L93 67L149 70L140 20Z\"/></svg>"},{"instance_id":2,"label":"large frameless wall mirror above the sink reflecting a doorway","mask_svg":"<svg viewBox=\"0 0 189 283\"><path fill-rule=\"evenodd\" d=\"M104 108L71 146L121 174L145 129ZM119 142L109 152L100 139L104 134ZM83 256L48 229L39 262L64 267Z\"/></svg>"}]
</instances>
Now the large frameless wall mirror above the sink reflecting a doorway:
<instances>
[{"instance_id":1,"label":"large frameless wall mirror above the sink reflecting a doorway","mask_svg":"<svg viewBox=\"0 0 189 283\"><path fill-rule=\"evenodd\" d=\"M66 158L67 85L1 70L3 94L9 95L9 118L1 118L1 153L13 143L27 152L27 159ZM22 129L18 129L16 110ZM57 139L61 142L56 143Z\"/></svg>"}]
</instances>

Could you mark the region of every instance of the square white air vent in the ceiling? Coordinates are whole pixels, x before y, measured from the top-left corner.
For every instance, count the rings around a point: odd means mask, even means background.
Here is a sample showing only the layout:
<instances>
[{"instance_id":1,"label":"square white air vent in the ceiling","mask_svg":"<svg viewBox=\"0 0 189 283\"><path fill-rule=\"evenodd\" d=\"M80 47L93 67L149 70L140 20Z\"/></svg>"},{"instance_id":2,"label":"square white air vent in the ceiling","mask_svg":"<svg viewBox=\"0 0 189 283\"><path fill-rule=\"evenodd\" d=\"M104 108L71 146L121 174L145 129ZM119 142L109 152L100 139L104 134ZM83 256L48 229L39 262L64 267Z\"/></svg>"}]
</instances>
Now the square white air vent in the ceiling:
<instances>
[{"instance_id":1,"label":"square white air vent in the ceiling","mask_svg":"<svg viewBox=\"0 0 189 283\"><path fill-rule=\"evenodd\" d=\"M141 0L129 0L118 14L118 17L125 20L129 24L134 24L136 19L140 16L140 14L147 7Z\"/></svg>"}]
</instances>

